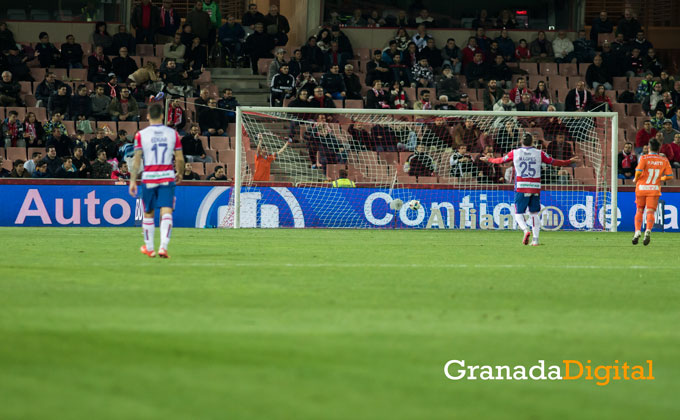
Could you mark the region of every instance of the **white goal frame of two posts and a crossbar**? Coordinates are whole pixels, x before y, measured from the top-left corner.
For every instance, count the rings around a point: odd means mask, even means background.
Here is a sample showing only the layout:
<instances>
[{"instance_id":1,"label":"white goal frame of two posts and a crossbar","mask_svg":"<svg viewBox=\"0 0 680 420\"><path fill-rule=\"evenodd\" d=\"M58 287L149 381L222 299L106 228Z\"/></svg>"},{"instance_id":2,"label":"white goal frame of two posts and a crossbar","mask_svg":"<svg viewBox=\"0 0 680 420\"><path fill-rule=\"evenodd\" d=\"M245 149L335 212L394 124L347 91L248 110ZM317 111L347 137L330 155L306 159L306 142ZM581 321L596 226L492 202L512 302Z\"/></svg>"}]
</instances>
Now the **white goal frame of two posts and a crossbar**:
<instances>
[{"instance_id":1,"label":"white goal frame of two posts and a crossbar","mask_svg":"<svg viewBox=\"0 0 680 420\"><path fill-rule=\"evenodd\" d=\"M384 114L384 115L418 115L431 117L446 116L489 116L489 117L565 117L573 118L580 115L588 117L609 117L611 118L611 220L610 232L617 231L618 221L618 147L619 147L619 114L617 112L565 112L565 111L458 111L458 110L412 110L412 109L365 109L365 108L272 108L262 106L238 106L236 107L236 149L234 161L234 229L241 227L241 188L243 179L241 174L241 162L243 156L243 112L262 112L265 114L275 113L278 110L286 113L299 114Z\"/></svg>"}]
</instances>

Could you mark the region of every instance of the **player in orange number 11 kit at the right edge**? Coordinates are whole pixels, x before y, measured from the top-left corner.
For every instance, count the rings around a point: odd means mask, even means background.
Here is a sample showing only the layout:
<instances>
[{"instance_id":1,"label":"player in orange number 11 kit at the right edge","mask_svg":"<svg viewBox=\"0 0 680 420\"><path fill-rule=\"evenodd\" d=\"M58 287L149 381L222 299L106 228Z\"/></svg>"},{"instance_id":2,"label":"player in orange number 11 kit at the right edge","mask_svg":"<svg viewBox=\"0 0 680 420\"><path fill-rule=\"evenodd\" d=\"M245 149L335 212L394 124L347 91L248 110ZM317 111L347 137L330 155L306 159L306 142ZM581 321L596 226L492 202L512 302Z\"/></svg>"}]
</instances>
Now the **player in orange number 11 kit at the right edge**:
<instances>
[{"instance_id":1,"label":"player in orange number 11 kit at the right edge","mask_svg":"<svg viewBox=\"0 0 680 420\"><path fill-rule=\"evenodd\" d=\"M673 178L671 165L668 159L659 155L661 145L656 139L649 141L649 154L640 157L637 168L635 168L635 203L637 212L635 213L635 234L633 235L633 245L637 245L642 235L642 216L647 208L647 229L643 244L649 245L651 240L652 227L654 226L654 213L659 204L661 196L661 182Z\"/></svg>"}]
</instances>

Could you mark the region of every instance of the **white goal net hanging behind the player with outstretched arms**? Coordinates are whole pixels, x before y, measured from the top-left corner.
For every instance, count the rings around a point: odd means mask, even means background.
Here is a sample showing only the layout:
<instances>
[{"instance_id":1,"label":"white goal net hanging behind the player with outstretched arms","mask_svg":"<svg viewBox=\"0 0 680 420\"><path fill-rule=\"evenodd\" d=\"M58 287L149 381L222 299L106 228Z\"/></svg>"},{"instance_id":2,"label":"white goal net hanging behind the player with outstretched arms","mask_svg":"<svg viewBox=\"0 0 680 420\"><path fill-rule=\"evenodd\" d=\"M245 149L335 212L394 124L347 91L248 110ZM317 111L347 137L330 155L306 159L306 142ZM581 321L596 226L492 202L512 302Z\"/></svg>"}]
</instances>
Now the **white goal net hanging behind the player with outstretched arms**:
<instances>
[{"instance_id":1,"label":"white goal net hanging behind the player with outstretched arms","mask_svg":"<svg viewBox=\"0 0 680 420\"><path fill-rule=\"evenodd\" d=\"M615 119L242 107L235 191L221 226L515 229L512 162L480 157L503 156L530 134L555 159L580 158L542 165L544 229L615 230Z\"/></svg>"}]
</instances>

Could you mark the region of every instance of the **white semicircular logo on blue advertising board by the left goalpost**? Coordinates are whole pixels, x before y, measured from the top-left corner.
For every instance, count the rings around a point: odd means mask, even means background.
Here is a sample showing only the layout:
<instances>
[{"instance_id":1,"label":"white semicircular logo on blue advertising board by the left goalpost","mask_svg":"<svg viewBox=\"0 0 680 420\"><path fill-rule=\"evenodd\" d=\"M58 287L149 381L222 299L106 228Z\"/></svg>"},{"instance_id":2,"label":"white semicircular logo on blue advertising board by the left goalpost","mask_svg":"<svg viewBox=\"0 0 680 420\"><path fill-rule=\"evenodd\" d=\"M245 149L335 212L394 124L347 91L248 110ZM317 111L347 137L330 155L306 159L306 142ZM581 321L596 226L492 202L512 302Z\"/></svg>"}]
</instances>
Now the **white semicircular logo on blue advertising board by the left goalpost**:
<instances>
[{"instance_id":1,"label":"white semicircular logo on blue advertising board by the left goalpost","mask_svg":"<svg viewBox=\"0 0 680 420\"><path fill-rule=\"evenodd\" d=\"M231 187L211 188L198 209L195 226L197 228L233 227L232 193ZM241 192L241 227L277 228L281 226L305 227L302 207L288 188L246 188Z\"/></svg>"}]
</instances>

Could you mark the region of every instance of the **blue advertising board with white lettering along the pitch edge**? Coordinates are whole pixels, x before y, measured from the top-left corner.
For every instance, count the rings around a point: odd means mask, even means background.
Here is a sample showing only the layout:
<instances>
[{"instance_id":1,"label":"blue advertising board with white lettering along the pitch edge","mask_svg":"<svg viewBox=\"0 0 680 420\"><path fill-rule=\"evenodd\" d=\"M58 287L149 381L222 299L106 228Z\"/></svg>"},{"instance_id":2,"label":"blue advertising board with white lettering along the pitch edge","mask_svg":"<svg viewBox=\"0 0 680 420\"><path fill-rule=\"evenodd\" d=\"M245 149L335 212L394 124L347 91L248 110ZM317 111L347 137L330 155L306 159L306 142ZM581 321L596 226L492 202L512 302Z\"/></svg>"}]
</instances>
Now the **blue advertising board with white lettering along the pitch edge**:
<instances>
[{"instance_id":1,"label":"blue advertising board with white lettering along the pitch edge","mask_svg":"<svg viewBox=\"0 0 680 420\"><path fill-rule=\"evenodd\" d=\"M322 188L322 187L320 187ZM246 187L241 191L242 227L353 228L382 229L498 229L514 228L509 216L514 211L513 192L407 188L393 191L395 197L420 200L418 211L389 209L389 190L384 188L330 189L333 200L315 199L315 188L290 185ZM0 184L1 226L135 226L141 224L142 206L128 195L127 185L110 183ZM231 184L201 182L176 189L176 227L216 227L228 219ZM318 192L316 192L318 194ZM543 211L544 228L583 229L603 223L605 211L597 209L594 192L544 191L551 195L570 194L571 205L548 207ZM574 194L578 194L575 199ZM328 195L328 191L326 191ZM318 197L318 195L316 195ZM493 202L489 199L494 197ZM559 197L553 197L559 198ZM619 191L619 229L633 230L634 192ZM678 232L680 189L664 192L664 228ZM233 201L232 201L233 202ZM262 205L261 202L266 204ZM474 208L471 202L479 203ZM555 200L553 202L566 202ZM331 208L329 203L335 203ZM342 208L337 203L343 203ZM233 213L233 212L231 212Z\"/></svg>"}]
</instances>

